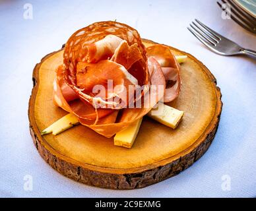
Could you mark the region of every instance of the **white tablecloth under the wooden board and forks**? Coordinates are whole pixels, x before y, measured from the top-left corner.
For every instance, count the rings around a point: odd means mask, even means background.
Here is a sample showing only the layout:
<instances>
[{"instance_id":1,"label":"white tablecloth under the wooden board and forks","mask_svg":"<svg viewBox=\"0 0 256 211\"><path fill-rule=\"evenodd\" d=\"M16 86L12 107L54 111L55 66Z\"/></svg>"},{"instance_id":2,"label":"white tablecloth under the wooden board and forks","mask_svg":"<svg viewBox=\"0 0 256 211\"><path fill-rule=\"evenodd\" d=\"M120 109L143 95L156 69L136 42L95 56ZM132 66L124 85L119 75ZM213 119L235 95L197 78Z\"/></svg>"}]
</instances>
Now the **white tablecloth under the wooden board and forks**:
<instances>
[{"instance_id":1,"label":"white tablecloth under the wooden board and forks","mask_svg":"<svg viewBox=\"0 0 256 211\"><path fill-rule=\"evenodd\" d=\"M216 55L186 28L199 18L256 50L255 36L223 20L216 0L31 2L32 20L23 17L27 1L0 3L0 196L256 196L256 60ZM143 38L195 55L216 76L224 102L218 133L200 160L176 177L131 191L89 187L57 173L40 158L28 129L34 65L77 29L115 19L137 28Z\"/></svg>"}]
</instances>

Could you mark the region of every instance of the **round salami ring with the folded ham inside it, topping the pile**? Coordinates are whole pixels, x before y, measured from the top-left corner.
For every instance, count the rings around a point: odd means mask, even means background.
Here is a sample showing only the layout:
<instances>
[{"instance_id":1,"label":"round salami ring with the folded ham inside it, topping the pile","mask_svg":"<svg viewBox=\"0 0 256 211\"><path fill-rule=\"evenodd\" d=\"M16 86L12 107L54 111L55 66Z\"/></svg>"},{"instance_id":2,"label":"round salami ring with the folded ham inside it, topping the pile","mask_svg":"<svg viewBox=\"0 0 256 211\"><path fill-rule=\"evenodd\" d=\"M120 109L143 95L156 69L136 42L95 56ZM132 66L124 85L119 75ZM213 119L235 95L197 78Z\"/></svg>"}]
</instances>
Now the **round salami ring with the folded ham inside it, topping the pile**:
<instances>
[{"instance_id":1,"label":"round salami ring with the folded ham inside it, topping the pile","mask_svg":"<svg viewBox=\"0 0 256 211\"><path fill-rule=\"evenodd\" d=\"M81 100L94 107L95 102L104 108L127 107L130 98L125 97L127 96L125 89L128 90L130 85L148 84L145 47L138 32L125 24L112 21L97 22L75 32L65 45L63 62L66 69L66 83ZM86 68L81 69L81 64ZM88 69L90 71L87 71ZM114 84L117 78L119 83L116 84L118 85L115 86L116 89L114 88L117 92L108 93L106 98L95 96L91 92L92 85L105 86L110 79ZM133 90L136 92L135 87ZM145 92L146 90L143 90L138 98L141 98ZM108 100L112 97L117 98L115 101Z\"/></svg>"}]
</instances>

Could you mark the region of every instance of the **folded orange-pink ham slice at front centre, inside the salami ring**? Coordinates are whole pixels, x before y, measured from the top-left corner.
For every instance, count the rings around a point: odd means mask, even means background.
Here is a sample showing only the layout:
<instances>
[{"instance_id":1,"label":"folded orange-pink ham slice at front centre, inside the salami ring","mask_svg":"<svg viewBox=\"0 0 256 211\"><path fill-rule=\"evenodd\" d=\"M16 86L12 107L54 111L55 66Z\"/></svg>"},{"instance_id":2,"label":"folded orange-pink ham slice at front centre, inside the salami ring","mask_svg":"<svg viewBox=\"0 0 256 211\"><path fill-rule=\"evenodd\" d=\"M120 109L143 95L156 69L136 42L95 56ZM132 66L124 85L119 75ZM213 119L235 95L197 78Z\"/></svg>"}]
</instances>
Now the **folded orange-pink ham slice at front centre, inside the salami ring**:
<instances>
[{"instance_id":1,"label":"folded orange-pink ham slice at front centre, inside the salami ring","mask_svg":"<svg viewBox=\"0 0 256 211\"><path fill-rule=\"evenodd\" d=\"M71 86L71 88L79 94L80 98L92 105L95 101L100 104L100 107L121 109L127 106L129 86L133 87L135 92L138 80L123 65L102 60L95 64L79 63L78 66L77 86ZM97 94L96 91L99 93Z\"/></svg>"}]
</instances>

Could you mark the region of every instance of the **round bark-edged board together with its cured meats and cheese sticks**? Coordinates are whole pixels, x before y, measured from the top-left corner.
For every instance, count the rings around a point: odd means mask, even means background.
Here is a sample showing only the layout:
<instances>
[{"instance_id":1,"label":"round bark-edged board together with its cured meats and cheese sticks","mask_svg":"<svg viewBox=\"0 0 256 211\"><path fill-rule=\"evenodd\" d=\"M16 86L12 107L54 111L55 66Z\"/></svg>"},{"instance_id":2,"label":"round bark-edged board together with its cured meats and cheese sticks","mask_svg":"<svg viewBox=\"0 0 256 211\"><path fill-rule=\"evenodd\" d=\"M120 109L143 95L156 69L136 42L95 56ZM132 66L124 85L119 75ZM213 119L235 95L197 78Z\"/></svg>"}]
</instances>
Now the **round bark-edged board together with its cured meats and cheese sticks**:
<instances>
[{"instance_id":1,"label":"round bark-edged board together with its cured meats and cheese sticks","mask_svg":"<svg viewBox=\"0 0 256 211\"><path fill-rule=\"evenodd\" d=\"M220 88L203 63L115 21L75 32L32 78L40 156L87 185L136 189L177 175L207 151L220 121Z\"/></svg>"}]
</instances>

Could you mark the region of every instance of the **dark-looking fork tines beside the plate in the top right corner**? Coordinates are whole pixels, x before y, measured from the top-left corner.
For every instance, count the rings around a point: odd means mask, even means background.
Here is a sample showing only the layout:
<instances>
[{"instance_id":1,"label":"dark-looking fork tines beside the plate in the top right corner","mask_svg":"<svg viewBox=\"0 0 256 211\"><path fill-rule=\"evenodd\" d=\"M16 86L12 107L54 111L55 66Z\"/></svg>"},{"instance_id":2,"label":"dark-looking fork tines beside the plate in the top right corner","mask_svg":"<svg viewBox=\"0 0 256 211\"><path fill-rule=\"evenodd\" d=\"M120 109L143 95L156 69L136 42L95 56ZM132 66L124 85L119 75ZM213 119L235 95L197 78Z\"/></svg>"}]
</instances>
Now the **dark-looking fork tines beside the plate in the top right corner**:
<instances>
[{"instance_id":1,"label":"dark-looking fork tines beside the plate in the top right corner","mask_svg":"<svg viewBox=\"0 0 256 211\"><path fill-rule=\"evenodd\" d=\"M245 28L245 30L256 34L256 18L245 13L243 9L241 9L234 1L232 0L222 0L222 3L217 1L217 4L220 8L225 11L225 7L223 5L229 5L230 7L230 18L234 20L241 27Z\"/></svg>"}]
</instances>

